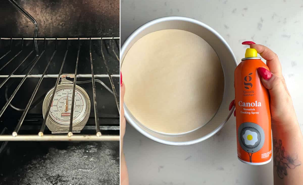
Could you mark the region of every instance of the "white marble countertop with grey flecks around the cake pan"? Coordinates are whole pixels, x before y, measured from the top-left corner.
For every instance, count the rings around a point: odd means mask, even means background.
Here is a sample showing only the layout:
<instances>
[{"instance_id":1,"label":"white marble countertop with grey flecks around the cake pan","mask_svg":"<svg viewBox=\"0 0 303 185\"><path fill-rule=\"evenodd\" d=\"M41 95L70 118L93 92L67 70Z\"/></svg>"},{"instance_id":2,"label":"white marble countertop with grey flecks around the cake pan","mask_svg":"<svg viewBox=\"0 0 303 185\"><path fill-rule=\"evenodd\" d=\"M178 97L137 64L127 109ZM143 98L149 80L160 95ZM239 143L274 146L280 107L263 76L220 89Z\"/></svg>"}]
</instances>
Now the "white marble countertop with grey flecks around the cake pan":
<instances>
[{"instance_id":1,"label":"white marble countertop with grey flecks around the cake pan","mask_svg":"<svg viewBox=\"0 0 303 185\"><path fill-rule=\"evenodd\" d=\"M228 42L238 61L244 57L242 41L264 44L277 53L302 128L302 1L122 0L121 44L147 21L172 15L194 18L214 28ZM132 185L273 184L272 161L251 166L237 159L234 117L215 136L194 145L159 144L130 125L124 142Z\"/></svg>"}]
</instances>

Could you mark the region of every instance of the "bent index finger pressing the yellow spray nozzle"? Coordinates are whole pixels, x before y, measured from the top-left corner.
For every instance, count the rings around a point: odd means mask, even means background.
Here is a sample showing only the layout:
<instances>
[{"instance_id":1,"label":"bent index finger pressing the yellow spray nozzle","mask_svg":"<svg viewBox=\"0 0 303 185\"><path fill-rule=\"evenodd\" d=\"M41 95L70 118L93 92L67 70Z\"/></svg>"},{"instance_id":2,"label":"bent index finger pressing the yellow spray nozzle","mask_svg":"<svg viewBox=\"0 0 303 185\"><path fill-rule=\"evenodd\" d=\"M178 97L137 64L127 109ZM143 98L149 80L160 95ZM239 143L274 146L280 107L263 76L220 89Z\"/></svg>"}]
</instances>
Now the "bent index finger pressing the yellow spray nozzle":
<instances>
[{"instance_id":1,"label":"bent index finger pressing the yellow spray nozzle","mask_svg":"<svg viewBox=\"0 0 303 185\"><path fill-rule=\"evenodd\" d=\"M278 55L275 54L268 47L261 44L251 44L250 48L257 50L258 54L266 60L266 65L268 66L271 73L275 75L282 76L281 63L279 61Z\"/></svg>"}]
</instances>

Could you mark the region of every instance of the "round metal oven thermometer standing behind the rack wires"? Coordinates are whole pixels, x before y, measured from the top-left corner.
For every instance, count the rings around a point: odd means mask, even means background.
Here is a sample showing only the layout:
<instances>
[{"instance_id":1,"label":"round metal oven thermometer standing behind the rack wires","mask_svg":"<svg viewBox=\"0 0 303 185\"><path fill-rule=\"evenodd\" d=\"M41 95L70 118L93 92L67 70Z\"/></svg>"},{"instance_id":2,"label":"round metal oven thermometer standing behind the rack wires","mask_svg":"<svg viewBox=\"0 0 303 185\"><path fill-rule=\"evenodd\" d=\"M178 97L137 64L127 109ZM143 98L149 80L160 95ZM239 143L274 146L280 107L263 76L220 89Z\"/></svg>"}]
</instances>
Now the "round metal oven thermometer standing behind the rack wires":
<instances>
[{"instance_id":1,"label":"round metal oven thermometer standing behind the rack wires","mask_svg":"<svg viewBox=\"0 0 303 185\"><path fill-rule=\"evenodd\" d=\"M43 101L43 118L45 118L48 105L52 104L48 119L46 120L46 126L52 131L52 134L68 133L69 130L73 82L66 80L66 76L74 77L74 75L62 75L61 83L57 86L54 99L51 101L55 87L47 92ZM76 85L72 124L72 131L74 133L79 133L84 128L89 118L90 109L91 100L87 92L82 87Z\"/></svg>"}]
</instances>

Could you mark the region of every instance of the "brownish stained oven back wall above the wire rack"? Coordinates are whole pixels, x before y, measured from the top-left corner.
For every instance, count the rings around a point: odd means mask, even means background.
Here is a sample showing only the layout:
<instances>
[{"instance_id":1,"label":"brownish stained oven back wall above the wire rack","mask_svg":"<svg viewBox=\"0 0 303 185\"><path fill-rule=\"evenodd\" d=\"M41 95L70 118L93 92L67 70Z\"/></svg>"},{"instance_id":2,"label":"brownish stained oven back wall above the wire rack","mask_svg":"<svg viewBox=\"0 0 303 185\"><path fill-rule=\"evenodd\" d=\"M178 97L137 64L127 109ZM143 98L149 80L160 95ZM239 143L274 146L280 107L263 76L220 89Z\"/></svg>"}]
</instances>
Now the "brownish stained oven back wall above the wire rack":
<instances>
[{"instance_id":1,"label":"brownish stained oven back wall above the wire rack","mask_svg":"<svg viewBox=\"0 0 303 185\"><path fill-rule=\"evenodd\" d=\"M119 37L118 0L16 0L38 23L38 37ZM1 37L33 37L34 25L0 2Z\"/></svg>"}]
</instances>

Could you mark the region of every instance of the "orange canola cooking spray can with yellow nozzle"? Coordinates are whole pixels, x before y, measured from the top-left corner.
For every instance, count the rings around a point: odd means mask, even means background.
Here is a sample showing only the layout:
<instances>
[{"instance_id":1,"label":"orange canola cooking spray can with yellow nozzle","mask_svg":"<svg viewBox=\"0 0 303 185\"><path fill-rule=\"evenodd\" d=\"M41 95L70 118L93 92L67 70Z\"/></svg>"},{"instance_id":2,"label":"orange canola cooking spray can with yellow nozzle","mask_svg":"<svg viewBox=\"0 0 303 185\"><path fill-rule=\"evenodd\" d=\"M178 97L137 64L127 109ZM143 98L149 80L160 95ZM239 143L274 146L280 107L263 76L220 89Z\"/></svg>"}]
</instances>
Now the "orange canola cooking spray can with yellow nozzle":
<instances>
[{"instance_id":1,"label":"orange canola cooking spray can with yellow nozzle","mask_svg":"<svg viewBox=\"0 0 303 185\"><path fill-rule=\"evenodd\" d=\"M235 69L235 107L238 159L261 165L271 161L271 116L268 90L257 69L268 67L247 48L245 58Z\"/></svg>"}]
</instances>

